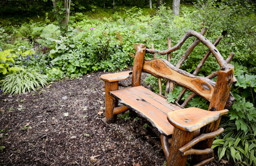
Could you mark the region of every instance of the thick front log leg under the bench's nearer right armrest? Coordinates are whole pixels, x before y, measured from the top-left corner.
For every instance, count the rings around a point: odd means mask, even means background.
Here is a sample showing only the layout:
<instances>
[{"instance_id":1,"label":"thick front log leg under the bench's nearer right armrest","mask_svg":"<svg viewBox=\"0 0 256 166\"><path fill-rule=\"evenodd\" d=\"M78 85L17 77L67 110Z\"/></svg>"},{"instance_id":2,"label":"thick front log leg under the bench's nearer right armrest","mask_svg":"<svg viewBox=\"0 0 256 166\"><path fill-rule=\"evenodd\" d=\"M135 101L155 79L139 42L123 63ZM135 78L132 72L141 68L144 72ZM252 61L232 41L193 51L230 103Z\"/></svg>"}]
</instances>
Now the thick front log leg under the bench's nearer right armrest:
<instances>
[{"instance_id":1,"label":"thick front log leg under the bench's nearer right armrest","mask_svg":"<svg viewBox=\"0 0 256 166\"><path fill-rule=\"evenodd\" d=\"M188 156L182 156L179 148L193 139L194 132L186 132L174 127L172 132L172 142L166 166L184 166Z\"/></svg>"}]
</instances>

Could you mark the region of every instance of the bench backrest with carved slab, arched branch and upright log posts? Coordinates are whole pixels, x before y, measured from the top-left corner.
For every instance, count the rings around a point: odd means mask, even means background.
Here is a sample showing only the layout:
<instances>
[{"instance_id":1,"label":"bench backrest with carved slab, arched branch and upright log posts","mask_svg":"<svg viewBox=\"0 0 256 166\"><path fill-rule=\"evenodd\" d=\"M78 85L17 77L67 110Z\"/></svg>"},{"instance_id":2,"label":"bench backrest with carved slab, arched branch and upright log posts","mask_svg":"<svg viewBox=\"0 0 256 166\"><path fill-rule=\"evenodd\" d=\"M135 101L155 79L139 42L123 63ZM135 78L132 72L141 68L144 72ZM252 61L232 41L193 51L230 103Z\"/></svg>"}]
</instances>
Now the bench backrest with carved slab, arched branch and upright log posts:
<instances>
[{"instance_id":1,"label":"bench backrest with carved slab, arched branch and upright log posts","mask_svg":"<svg viewBox=\"0 0 256 166\"><path fill-rule=\"evenodd\" d=\"M170 39L169 39L168 40L169 48L164 51L155 50L153 45L151 47L152 49L146 49L146 46L144 44L139 44L137 46L136 56L135 56L135 61L133 66L132 86L140 85L140 75L141 75L141 72L143 71L143 72L150 73L158 78L167 80L165 94L172 91L172 88L173 88L172 83L184 87L180 96L175 102L176 104L179 104L178 102L180 101L182 96L185 94L187 89L192 91L193 93L188 97L188 99L185 100L183 104L181 104L182 107L185 107L188 101L191 100L195 96L195 94L197 94L210 102L209 110L210 109L220 110L217 108L217 105L215 107L212 107L212 105L214 105L214 103L216 102L219 102L224 106L226 105L226 108L230 109L234 102L234 97L230 93L230 88L231 88L231 84L233 83L233 81L236 81L236 79L234 78L234 75L233 75L234 66L228 63L233 58L234 53L231 53L230 56L227 58L227 60L225 60L221 56L218 49L216 49L215 47L220 41L221 37L219 37L214 42L214 44L212 44L208 39L206 39L203 36L206 30L207 28L204 28L201 34L192 30L187 31L186 34L183 35L181 40L173 47L170 47ZM170 57L170 53L172 51L179 49L181 45L191 36L196 37L197 40L194 41L191 44L191 46L187 49L187 51L182 55L181 59L178 61L176 66L172 65L168 61ZM198 64L195 72L193 72L193 74L190 74L182 69L179 69L181 64L189 56L189 54L196 47L196 45L200 43L200 41L209 48L209 51L203 57L202 61ZM162 54L162 55L167 54L168 60L144 59L145 52L152 53L153 55L155 53ZM211 75L207 77L196 76L200 71L201 67L203 66L204 62L206 61L207 57L209 57L211 53L216 58L218 64L220 65L220 70L213 72ZM154 55L154 57L156 56ZM216 81L217 83L216 83L211 79L216 77L217 75L219 76L217 78L217 81ZM161 85L161 83L159 85ZM221 107L223 107L224 109L224 106L221 106Z\"/></svg>"}]
</instances>

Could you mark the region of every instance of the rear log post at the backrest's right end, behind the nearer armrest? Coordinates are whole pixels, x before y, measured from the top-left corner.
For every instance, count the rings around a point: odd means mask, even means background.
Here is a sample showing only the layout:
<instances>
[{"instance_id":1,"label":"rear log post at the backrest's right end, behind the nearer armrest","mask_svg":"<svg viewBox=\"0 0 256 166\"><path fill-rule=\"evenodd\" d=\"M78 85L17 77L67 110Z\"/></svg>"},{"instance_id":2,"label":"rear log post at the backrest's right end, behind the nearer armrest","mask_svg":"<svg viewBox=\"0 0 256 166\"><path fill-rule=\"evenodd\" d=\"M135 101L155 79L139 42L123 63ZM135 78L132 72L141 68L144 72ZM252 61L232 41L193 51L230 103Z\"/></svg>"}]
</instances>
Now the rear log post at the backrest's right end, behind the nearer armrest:
<instances>
[{"instance_id":1,"label":"rear log post at the backrest's right end, behind the nearer armrest","mask_svg":"<svg viewBox=\"0 0 256 166\"><path fill-rule=\"evenodd\" d=\"M209 111L218 111L225 108L226 102L230 94L230 89L233 82L233 76L234 76L234 66L232 64L226 64L223 67L221 67L216 80L214 92L212 94L212 100L210 102L210 106L208 109ZM216 131L220 124L220 119L202 127L200 129L200 134ZM207 139L202 142L199 142L196 145L196 149L206 149L206 148L212 147L213 140L214 138L211 138L211 139ZM207 158L206 155L196 155L195 161L201 162L206 158Z\"/></svg>"}]
</instances>

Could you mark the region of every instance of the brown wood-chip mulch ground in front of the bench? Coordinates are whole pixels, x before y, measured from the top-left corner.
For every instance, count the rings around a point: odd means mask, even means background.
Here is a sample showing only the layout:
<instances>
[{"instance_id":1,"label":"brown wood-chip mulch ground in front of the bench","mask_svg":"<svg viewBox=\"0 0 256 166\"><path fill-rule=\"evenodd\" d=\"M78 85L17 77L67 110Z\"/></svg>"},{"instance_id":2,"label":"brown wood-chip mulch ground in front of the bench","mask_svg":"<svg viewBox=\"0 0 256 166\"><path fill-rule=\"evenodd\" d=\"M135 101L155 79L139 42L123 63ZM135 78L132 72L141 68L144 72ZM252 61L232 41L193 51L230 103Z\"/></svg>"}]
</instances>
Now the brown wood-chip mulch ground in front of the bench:
<instances>
[{"instance_id":1,"label":"brown wood-chip mulch ground in front of the bench","mask_svg":"<svg viewBox=\"0 0 256 166\"><path fill-rule=\"evenodd\" d=\"M106 123L101 74L1 95L0 165L164 165L160 135L145 119L124 114ZM214 165L233 164L217 159L207 164Z\"/></svg>"}]
</instances>

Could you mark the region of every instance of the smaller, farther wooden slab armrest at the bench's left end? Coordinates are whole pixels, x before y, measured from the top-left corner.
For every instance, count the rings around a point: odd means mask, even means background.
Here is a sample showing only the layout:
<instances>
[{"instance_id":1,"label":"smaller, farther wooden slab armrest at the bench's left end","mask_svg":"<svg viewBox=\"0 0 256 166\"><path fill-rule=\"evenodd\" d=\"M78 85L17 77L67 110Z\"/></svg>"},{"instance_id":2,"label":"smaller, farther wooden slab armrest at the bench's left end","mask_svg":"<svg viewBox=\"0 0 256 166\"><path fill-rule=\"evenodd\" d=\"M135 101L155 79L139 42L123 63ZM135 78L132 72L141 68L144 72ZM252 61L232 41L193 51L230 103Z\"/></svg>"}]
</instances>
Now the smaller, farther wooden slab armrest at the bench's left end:
<instances>
[{"instance_id":1,"label":"smaller, farther wooden slab armrest at the bench's left end","mask_svg":"<svg viewBox=\"0 0 256 166\"><path fill-rule=\"evenodd\" d=\"M103 74L100 76L100 79L106 82L115 82L128 79L130 74L132 74L132 71Z\"/></svg>"}]
</instances>

